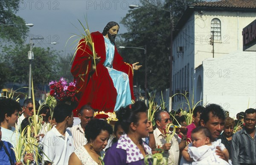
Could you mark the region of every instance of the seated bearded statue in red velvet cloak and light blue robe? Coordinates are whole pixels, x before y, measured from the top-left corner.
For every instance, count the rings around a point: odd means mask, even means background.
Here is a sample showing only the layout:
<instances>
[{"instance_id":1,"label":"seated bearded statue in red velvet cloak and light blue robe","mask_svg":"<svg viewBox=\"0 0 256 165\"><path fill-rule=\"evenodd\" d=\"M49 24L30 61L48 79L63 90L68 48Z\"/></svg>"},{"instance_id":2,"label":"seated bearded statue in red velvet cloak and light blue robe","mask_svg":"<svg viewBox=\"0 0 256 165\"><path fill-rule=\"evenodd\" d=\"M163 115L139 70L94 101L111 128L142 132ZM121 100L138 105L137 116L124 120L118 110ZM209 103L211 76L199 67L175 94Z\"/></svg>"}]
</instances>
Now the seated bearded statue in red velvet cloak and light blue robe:
<instances>
[{"instance_id":1,"label":"seated bearded statue in red velvet cloak and light blue robe","mask_svg":"<svg viewBox=\"0 0 256 165\"><path fill-rule=\"evenodd\" d=\"M141 65L123 61L114 43L118 31L118 23L111 21L102 33L90 34L97 56L96 66L86 41L79 41L71 68L79 98L76 109L89 104L93 109L113 112L134 100L133 74Z\"/></svg>"}]
</instances>

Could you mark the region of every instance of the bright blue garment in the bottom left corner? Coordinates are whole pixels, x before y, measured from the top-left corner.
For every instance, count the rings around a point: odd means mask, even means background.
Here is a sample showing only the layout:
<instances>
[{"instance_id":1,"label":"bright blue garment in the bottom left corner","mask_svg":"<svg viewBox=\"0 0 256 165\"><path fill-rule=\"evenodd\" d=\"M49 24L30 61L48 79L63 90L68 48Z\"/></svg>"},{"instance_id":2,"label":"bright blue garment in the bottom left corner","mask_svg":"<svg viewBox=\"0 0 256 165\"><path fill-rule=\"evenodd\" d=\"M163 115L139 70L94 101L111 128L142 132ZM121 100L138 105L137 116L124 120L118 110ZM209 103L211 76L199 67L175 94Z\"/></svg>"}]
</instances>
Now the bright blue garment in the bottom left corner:
<instances>
[{"instance_id":1,"label":"bright blue garment in the bottom left corner","mask_svg":"<svg viewBox=\"0 0 256 165\"><path fill-rule=\"evenodd\" d=\"M15 159L15 153L13 151L13 146L11 143L9 142L6 142L6 141L2 141L4 143L4 145L6 146L6 149L7 151L9 152L10 156L11 156L11 160L13 163L16 162L16 159ZM6 151L4 150L3 148L3 145L2 143L0 143L0 164L1 165L10 165L10 160L9 160L9 157L8 155L6 154Z\"/></svg>"}]
</instances>

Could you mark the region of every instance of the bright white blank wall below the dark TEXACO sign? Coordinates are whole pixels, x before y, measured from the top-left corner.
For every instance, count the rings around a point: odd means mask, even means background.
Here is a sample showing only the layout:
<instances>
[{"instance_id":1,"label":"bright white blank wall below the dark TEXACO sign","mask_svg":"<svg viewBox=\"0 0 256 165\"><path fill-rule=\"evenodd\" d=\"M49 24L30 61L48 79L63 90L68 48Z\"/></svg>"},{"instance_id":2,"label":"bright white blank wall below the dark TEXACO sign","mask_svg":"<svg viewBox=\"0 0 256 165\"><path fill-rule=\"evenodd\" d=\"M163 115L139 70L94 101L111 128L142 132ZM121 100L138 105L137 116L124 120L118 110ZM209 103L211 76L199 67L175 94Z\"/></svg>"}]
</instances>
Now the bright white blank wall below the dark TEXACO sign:
<instances>
[{"instance_id":1,"label":"bright white blank wall below the dark TEXACO sign","mask_svg":"<svg viewBox=\"0 0 256 165\"><path fill-rule=\"evenodd\" d=\"M236 51L203 61L204 103L216 103L230 116L256 108L256 52Z\"/></svg>"}]
</instances>

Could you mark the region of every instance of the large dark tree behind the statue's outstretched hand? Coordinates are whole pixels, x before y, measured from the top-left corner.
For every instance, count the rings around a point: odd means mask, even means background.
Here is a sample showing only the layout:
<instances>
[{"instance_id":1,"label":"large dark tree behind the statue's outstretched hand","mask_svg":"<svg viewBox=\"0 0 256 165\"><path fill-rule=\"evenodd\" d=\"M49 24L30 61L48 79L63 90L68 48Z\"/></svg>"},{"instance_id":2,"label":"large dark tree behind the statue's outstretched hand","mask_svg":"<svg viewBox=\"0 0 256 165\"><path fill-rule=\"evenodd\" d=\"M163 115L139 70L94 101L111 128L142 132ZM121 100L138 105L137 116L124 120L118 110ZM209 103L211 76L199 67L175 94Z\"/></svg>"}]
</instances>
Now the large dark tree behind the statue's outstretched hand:
<instances>
[{"instance_id":1,"label":"large dark tree behind the statue's outstretched hand","mask_svg":"<svg viewBox=\"0 0 256 165\"><path fill-rule=\"evenodd\" d=\"M122 41L118 44L133 47L147 46L148 91L161 91L169 88L171 21L175 27L186 6L194 2L195 0L143 0L142 6L144 7L129 10L122 19L121 23L128 32L121 34ZM172 11L172 20L169 12L152 8ZM140 86L144 88L145 56L143 51L122 49L120 54L125 61L130 63L140 61L144 66L134 75L135 82L138 80Z\"/></svg>"}]
</instances>

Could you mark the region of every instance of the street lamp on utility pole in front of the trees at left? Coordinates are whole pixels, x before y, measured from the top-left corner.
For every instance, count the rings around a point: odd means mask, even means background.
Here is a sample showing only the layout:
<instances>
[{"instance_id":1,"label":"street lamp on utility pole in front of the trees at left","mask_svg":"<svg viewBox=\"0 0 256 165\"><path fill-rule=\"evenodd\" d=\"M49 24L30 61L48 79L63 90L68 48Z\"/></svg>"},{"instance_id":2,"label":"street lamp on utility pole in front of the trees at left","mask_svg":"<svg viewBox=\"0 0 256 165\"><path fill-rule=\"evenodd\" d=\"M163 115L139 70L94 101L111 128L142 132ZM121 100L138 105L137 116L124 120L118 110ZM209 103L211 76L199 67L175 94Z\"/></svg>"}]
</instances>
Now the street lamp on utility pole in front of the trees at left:
<instances>
[{"instance_id":1,"label":"street lamp on utility pole in front of the trees at left","mask_svg":"<svg viewBox=\"0 0 256 165\"><path fill-rule=\"evenodd\" d=\"M32 85L32 60L34 60L34 52L32 49L34 48L34 44L32 43L32 40L44 40L44 38L30 38L30 50L28 53L28 60L29 60L29 98L31 98L31 85ZM57 43L53 42L50 43L53 45L56 45Z\"/></svg>"}]
</instances>

